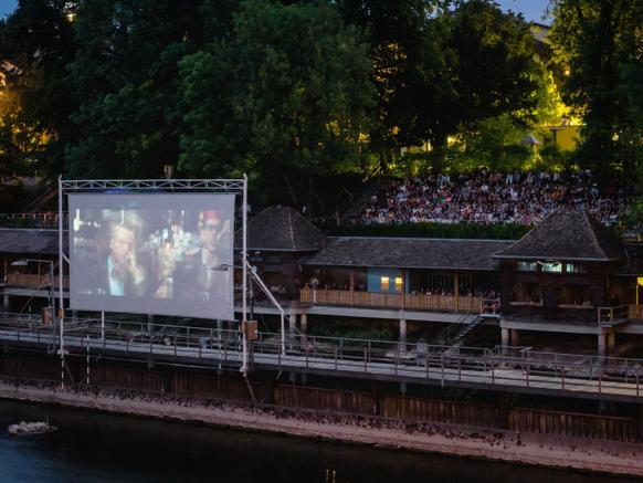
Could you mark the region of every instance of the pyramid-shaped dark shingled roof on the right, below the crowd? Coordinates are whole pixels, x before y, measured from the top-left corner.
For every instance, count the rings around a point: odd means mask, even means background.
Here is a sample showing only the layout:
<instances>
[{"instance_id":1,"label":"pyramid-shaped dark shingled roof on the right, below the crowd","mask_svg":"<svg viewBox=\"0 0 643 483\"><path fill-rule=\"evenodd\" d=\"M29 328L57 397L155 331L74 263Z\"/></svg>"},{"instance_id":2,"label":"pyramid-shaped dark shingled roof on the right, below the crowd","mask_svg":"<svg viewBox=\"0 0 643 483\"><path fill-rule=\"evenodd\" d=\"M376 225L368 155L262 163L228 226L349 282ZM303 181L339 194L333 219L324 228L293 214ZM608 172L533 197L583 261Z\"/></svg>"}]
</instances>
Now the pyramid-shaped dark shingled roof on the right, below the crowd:
<instances>
[{"instance_id":1,"label":"pyramid-shaped dark shingled roof on the right, below the crowd","mask_svg":"<svg viewBox=\"0 0 643 483\"><path fill-rule=\"evenodd\" d=\"M557 212L496 259L611 262L623 260L619 240L587 211Z\"/></svg>"}]
</instances>

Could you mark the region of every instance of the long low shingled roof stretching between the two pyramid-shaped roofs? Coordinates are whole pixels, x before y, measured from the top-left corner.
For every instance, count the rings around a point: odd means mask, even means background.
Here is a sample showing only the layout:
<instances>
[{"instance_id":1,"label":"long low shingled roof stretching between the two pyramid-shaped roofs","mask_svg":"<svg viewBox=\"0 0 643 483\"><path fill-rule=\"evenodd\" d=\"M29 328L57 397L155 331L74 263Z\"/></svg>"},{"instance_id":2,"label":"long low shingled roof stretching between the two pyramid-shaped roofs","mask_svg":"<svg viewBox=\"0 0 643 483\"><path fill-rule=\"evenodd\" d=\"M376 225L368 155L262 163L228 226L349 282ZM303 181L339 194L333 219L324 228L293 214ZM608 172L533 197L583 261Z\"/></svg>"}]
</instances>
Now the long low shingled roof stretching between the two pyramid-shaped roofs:
<instances>
[{"instance_id":1,"label":"long low shingled roof stretching between the two pyramid-shaped roofs","mask_svg":"<svg viewBox=\"0 0 643 483\"><path fill-rule=\"evenodd\" d=\"M493 254L507 248L506 240L453 240L422 238L328 238L318 253L303 265L372 266L435 270L497 270Z\"/></svg>"}]
</instances>

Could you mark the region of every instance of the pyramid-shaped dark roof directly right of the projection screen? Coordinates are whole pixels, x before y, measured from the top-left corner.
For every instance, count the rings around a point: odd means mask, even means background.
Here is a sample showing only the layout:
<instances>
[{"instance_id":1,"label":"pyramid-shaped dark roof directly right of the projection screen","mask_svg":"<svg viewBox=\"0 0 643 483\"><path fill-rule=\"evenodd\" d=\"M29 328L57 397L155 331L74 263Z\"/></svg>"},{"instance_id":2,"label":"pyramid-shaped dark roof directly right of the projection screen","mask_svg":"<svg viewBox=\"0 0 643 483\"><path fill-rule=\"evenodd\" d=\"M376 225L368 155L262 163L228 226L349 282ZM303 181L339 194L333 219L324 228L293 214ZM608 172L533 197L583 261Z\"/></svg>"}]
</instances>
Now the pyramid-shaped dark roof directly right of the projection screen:
<instances>
[{"instance_id":1,"label":"pyramid-shaped dark roof directly right of the projection screen","mask_svg":"<svg viewBox=\"0 0 643 483\"><path fill-rule=\"evenodd\" d=\"M289 207L270 207L247 223L247 249L308 252L324 246L326 235ZM235 246L241 246L241 230Z\"/></svg>"}]
</instances>

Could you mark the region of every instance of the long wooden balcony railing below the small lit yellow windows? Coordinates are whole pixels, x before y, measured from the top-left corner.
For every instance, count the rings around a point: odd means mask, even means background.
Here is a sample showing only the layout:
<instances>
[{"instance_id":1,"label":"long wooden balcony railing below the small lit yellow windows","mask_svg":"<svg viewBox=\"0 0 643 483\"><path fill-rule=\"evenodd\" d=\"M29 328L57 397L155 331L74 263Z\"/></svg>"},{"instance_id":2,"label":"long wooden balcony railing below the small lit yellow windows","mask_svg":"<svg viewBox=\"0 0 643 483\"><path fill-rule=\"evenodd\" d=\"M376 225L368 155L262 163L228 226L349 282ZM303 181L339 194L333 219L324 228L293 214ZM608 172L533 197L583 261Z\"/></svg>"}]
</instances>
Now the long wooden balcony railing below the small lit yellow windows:
<instances>
[{"instance_id":1,"label":"long wooden balcony railing below the small lit yellow windows","mask_svg":"<svg viewBox=\"0 0 643 483\"><path fill-rule=\"evenodd\" d=\"M347 305L368 308L407 308L409 311L466 312L473 314L481 314L484 308L484 300L482 297L351 292L325 288L303 288L299 293L299 302L313 305Z\"/></svg>"}]
</instances>

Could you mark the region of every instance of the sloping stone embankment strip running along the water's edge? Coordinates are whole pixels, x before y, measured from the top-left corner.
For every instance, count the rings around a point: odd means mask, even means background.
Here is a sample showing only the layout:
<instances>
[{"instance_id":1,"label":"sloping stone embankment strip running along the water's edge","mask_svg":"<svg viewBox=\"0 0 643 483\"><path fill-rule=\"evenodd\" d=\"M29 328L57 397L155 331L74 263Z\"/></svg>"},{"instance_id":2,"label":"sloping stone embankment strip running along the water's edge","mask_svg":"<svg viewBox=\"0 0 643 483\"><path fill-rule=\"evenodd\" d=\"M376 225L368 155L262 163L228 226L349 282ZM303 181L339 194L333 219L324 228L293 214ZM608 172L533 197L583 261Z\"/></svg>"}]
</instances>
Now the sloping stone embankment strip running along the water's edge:
<instances>
[{"instance_id":1,"label":"sloping stone embankment strip running along the water's edge","mask_svg":"<svg viewBox=\"0 0 643 483\"><path fill-rule=\"evenodd\" d=\"M106 412L610 474L643 476L643 444L403 422L133 390L0 381L0 398Z\"/></svg>"}]
</instances>

